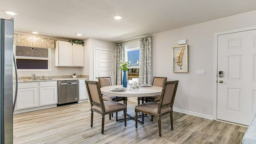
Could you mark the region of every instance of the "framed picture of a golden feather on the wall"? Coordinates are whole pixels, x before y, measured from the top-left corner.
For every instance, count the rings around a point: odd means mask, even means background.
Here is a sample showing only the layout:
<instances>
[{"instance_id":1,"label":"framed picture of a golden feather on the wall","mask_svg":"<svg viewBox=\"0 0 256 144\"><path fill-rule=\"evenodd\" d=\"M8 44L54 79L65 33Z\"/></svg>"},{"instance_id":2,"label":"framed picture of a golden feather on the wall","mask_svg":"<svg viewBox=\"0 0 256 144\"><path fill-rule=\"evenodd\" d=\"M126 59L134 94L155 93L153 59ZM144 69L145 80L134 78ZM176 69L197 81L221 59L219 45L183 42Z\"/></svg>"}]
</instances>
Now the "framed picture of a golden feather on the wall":
<instances>
[{"instance_id":1,"label":"framed picture of a golden feather on the wall","mask_svg":"<svg viewBox=\"0 0 256 144\"><path fill-rule=\"evenodd\" d=\"M188 44L172 47L172 72L188 72Z\"/></svg>"}]
</instances>

